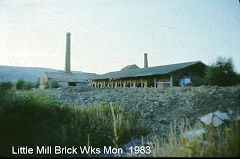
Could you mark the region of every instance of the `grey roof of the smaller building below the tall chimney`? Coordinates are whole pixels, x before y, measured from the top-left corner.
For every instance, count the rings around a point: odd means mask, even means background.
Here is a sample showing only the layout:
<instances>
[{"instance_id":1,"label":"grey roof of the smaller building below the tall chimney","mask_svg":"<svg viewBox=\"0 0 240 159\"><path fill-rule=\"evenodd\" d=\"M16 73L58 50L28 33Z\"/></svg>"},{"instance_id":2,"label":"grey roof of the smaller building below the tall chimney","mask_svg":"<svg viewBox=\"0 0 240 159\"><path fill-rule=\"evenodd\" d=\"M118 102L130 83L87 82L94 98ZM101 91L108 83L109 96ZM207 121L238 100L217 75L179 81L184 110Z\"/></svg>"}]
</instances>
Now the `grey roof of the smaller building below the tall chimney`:
<instances>
[{"instance_id":1,"label":"grey roof of the smaller building below the tall chimney","mask_svg":"<svg viewBox=\"0 0 240 159\"><path fill-rule=\"evenodd\" d=\"M65 73L60 72L44 72L48 78L54 79L58 82L87 82L96 76L93 73Z\"/></svg>"}]
</instances>

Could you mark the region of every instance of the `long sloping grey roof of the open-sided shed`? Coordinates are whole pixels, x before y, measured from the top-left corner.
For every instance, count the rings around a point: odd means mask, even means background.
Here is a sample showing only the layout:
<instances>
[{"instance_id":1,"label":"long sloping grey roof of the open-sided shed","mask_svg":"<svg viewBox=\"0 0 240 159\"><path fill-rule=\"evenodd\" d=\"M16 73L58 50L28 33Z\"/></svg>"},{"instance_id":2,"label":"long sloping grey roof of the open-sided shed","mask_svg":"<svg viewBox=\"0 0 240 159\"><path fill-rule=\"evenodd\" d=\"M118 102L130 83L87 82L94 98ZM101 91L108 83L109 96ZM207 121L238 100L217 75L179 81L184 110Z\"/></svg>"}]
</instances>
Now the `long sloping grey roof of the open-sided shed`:
<instances>
[{"instance_id":1,"label":"long sloping grey roof of the open-sided shed","mask_svg":"<svg viewBox=\"0 0 240 159\"><path fill-rule=\"evenodd\" d=\"M140 77L140 76L151 76L151 75L163 75L169 74L179 69L183 69L195 64L201 63L201 61L193 61L193 62L184 62L178 64L170 64L170 65L162 65L155 67L147 67L147 68L139 68L132 70L124 70L124 71L115 71L109 72L102 75L97 75L93 80L97 79L117 79L117 78L127 78L127 77ZM203 64L205 65L205 64Z\"/></svg>"}]
</instances>

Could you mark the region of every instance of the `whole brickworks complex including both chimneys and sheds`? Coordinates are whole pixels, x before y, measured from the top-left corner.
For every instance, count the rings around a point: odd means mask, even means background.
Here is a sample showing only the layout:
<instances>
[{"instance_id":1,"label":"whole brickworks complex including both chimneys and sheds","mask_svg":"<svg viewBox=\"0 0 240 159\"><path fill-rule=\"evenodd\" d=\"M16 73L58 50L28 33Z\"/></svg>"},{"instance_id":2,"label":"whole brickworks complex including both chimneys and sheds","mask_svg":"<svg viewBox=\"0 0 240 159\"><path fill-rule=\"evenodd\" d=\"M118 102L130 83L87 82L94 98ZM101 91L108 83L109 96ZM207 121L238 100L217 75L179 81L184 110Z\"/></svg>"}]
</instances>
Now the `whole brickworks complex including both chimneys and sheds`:
<instances>
[{"instance_id":1,"label":"whole brickworks complex including both chimneys and sheds","mask_svg":"<svg viewBox=\"0 0 240 159\"><path fill-rule=\"evenodd\" d=\"M128 65L120 71L102 75L71 72L71 34L66 35L65 71L43 72L40 88L59 86L93 87L155 87L197 85L204 76L206 65L201 61L148 67L147 53L144 54L144 68Z\"/></svg>"}]
</instances>

